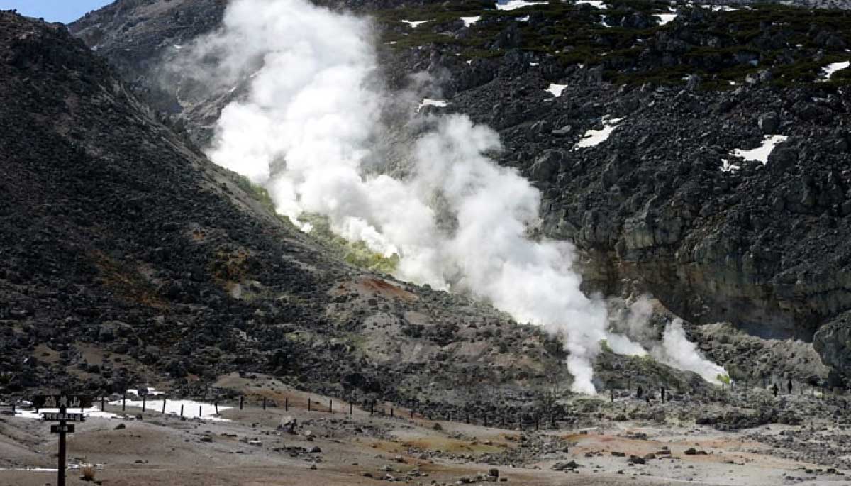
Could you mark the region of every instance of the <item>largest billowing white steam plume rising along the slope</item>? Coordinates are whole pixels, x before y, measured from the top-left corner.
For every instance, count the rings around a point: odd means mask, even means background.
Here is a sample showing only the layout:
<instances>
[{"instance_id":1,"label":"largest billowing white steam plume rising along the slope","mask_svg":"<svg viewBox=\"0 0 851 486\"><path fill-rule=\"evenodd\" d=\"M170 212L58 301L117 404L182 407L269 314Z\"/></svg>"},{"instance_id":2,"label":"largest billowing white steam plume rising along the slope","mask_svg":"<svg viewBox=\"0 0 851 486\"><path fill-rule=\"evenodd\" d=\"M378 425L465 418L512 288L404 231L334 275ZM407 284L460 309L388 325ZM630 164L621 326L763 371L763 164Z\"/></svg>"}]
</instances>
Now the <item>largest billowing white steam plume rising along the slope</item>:
<instances>
[{"instance_id":1,"label":"largest billowing white steam plume rising along the slope","mask_svg":"<svg viewBox=\"0 0 851 486\"><path fill-rule=\"evenodd\" d=\"M221 112L208 154L266 186L280 213L326 215L343 237L398 254L397 277L475 294L563 335L576 392L595 392L601 340L646 353L607 331L606 307L580 291L568 243L527 237L540 193L485 155L500 150L492 129L465 116L432 118L410 149L408 176L369 174L391 100L376 88L367 20L305 0L237 0L192 52L204 60L192 63L193 75L250 83Z\"/></svg>"}]
</instances>

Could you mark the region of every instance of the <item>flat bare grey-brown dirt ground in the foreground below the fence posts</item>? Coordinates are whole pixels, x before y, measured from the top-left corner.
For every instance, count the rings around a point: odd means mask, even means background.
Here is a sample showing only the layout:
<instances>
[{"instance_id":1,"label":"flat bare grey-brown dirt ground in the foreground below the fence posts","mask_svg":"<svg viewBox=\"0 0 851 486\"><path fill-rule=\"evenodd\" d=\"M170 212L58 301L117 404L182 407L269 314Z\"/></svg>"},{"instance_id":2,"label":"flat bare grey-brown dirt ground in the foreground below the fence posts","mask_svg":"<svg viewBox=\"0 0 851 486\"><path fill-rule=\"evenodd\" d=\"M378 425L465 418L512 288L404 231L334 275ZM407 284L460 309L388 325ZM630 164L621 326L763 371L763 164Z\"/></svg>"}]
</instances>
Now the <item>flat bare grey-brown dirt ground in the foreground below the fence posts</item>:
<instances>
[{"instance_id":1,"label":"flat bare grey-brown dirt ground in the foreground below the fence posts","mask_svg":"<svg viewBox=\"0 0 851 486\"><path fill-rule=\"evenodd\" d=\"M828 419L718 432L676 414L615 421L600 413L582 426L521 432L411 420L403 409L394 409L392 418L357 407L349 415L348 403L337 400L329 414L328 397L262 377L229 375L219 385L254 397L262 391L277 406L263 410L254 401L241 411L228 403L234 408L223 410L221 418L230 421L181 420L151 410L129 420L140 409L127 409L127 419L89 418L69 436L68 484L89 484L77 469L83 463L99 465L95 479L105 485L849 483L841 470L801 459L811 455L792 458L795 447L771 442L804 430L812 433L792 440L817 445L831 432L844 437L844 427ZM308 412L308 398L321 403L321 411L314 405ZM120 406L107 411L122 414ZM298 423L294 433L278 430L290 418ZM48 424L0 416L0 485L55 484L56 451Z\"/></svg>"}]
</instances>

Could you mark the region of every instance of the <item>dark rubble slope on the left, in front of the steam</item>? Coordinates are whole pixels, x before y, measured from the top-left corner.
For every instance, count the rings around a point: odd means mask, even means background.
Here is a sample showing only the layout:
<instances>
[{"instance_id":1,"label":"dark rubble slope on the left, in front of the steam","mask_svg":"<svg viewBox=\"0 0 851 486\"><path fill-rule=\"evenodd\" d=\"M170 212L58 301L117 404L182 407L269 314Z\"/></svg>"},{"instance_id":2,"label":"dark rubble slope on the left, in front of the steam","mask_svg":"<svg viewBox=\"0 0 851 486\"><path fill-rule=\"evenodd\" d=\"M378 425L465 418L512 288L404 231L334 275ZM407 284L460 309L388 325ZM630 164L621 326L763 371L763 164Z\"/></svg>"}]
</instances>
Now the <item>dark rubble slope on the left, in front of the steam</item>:
<instances>
[{"instance_id":1,"label":"dark rubble slope on the left, in front of the steam","mask_svg":"<svg viewBox=\"0 0 851 486\"><path fill-rule=\"evenodd\" d=\"M0 395L191 395L240 371L460 407L568 380L539 329L307 239L64 26L0 12L0 100Z\"/></svg>"}]
</instances>

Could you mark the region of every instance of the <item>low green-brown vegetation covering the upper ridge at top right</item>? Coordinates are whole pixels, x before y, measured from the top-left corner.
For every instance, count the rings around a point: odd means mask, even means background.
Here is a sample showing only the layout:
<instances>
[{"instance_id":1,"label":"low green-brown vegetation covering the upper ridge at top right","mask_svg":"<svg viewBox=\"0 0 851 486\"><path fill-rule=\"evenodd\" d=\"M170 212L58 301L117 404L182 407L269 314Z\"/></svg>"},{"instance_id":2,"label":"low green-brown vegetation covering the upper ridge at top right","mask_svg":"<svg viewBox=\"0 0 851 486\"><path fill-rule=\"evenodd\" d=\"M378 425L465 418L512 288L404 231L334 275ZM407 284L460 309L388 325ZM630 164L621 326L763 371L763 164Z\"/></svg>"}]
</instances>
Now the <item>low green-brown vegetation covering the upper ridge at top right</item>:
<instances>
[{"instance_id":1,"label":"low green-brown vegetation covering the upper ridge at top right","mask_svg":"<svg viewBox=\"0 0 851 486\"><path fill-rule=\"evenodd\" d=\"M851 60L851 12L774 3L711 7L611 0L605 9L555 0L519 9L490 2L434 3L374 12L382 41L395 49L437 45L463 60L511 49L563 66L600 67L615 83L682 84L697 75L705 89L730 89L771 72L772 83L819 80L822 69ZM663 24L660 15L676 15ZM465 26L461 17L479 17ZM412 27L403 20L422 21ZM848 84L837 71L825 88ZM763 81L765 79L763 78Z\"/></svg>"}]
</instances>

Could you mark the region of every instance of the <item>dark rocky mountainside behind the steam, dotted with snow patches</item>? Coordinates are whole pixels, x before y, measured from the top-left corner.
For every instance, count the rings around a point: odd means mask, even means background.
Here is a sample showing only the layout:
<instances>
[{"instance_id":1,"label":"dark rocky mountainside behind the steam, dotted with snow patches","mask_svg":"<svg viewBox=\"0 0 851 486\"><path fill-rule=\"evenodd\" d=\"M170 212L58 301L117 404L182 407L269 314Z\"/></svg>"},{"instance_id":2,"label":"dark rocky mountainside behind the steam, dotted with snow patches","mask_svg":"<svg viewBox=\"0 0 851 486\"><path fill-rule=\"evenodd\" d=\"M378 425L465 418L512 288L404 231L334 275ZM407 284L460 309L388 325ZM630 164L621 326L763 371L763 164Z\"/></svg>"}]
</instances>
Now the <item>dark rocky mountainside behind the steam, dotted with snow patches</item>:
<instances>
[{"instance_id":1,"label":"dark rocky mountainside behind the steam, dotted with snow patches","mask_svg":"<svg viewBox=\"0 0 851 486\"><path fill-rule=\"evenodd\" d=\"M442 82L422 95L451 101L430 110L499 130L500 163L540 187L542 232L580 248L589 290L647 291L694 322L805 340L851 308L847 71L819 80L848 56L847 11L683 4L663 23L670 6L620 1L335 6L374 16L391 87L430 72ZM163 89L157 63L221 14L121 1L71 30L203 144L241 89ZM736 156L774 135L764 161Z\"/></svg>"}]
</instances>

